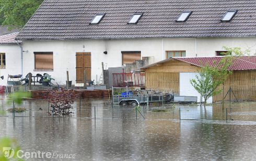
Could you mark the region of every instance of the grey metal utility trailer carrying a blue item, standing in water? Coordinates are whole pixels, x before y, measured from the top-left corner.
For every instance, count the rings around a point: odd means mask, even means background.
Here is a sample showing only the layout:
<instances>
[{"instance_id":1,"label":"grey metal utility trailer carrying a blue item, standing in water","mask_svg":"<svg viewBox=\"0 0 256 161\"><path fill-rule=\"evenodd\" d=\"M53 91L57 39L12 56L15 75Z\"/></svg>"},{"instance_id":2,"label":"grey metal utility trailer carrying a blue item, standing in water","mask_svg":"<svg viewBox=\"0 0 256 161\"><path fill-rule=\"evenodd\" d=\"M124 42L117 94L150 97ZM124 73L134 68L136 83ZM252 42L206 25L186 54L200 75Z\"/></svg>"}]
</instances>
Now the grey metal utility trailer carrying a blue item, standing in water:
<instances>
[{"instance_id":1,"label":"grey metal utility trailer carrying a blue item, standing in water","mask_svg":"<svg viewBox=\"0 0 256 161\"><path fill-rule=\"evenodd\" d=\"M133 94L130 92L129 88L126 87L125 92L119 95L114 95L114 89L122 88L112 88L113 104L135 106L139 104L163 102L163 96L161 94L142 95L138 91L135 94Z\"/></svg>"}]
</instances>

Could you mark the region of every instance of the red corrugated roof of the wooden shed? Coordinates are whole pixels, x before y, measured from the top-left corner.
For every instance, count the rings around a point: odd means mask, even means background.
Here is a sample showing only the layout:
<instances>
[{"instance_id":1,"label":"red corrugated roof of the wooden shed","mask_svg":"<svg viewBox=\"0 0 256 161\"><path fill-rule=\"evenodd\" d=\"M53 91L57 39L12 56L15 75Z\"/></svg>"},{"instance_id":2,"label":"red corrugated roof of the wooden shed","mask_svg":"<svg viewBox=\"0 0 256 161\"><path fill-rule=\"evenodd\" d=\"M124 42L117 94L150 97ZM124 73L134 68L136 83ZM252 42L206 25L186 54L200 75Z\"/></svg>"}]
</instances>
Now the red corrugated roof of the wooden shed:
<instances>
[{"instance_id":1,"label":"red corrugated roof of the wooden shed","mask_svg":"<svg viewBox=\"0 0 256 161\"><path fill-rule=\"evenodd\" d=\"M159 61L155 64L143 67L142 69L146 69L149 67L156 66L161 63L165 63L167 61L171 60L179 60L184 61L186 63L202 67L206 64L210 66L215 66L219 63L219 61L223 58L223 56L218 57L173 57L169 59L165 59L162 61ZM229 68L229 70L256 70L256 56L241 56L234 59L234 64L232 64Z\"/></svg>"}]
</instances>

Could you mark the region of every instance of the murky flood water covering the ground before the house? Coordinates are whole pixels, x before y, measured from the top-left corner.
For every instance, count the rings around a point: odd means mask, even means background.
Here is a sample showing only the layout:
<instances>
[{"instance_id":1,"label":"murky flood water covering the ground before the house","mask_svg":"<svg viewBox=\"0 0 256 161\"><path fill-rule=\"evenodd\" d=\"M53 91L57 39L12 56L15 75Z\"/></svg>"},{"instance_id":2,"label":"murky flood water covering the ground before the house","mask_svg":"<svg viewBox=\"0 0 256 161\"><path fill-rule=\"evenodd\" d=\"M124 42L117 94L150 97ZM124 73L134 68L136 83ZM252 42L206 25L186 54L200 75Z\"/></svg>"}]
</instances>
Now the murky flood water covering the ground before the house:
<instances>
[{"instance_id":1,"label":"murky flood water covering the ground before the house","mask_svg":"<svg viewBox=\"0 0 256 161\"><path fill-rule=\"evenodd\" d=\"M78 100L71 117L48 116L47 101L22 106L28 110L15 120L10 113L0 117L0 137L16 138L25 152L75 154L72 159L26 160L256 159L254 102L205 109L154 104L142 106L137 119L134 107L112 106L108 100ZM2 107L9 108L4 102Z\"/></svg>"}]
</instances>

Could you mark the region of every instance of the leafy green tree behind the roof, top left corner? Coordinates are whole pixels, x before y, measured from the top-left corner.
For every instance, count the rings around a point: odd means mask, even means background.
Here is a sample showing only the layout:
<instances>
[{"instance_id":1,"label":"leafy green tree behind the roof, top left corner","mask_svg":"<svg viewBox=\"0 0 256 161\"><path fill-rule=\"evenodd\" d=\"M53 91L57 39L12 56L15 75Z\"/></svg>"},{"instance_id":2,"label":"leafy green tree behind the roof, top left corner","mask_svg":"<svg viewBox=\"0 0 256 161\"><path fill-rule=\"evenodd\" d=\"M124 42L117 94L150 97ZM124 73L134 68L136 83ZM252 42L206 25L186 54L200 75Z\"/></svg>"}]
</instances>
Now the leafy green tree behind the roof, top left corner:
<instances>
[{"instance_id":1,"label":"leafy green tree behind the roof, top left corner","mask_svg":"<svg viewBox=\"0 0 256 161\"><path fill-rule=\"evenodd\" d=\"M0 24L22 28L43 0L0 0Z\"/></svg>"}]
</instances>

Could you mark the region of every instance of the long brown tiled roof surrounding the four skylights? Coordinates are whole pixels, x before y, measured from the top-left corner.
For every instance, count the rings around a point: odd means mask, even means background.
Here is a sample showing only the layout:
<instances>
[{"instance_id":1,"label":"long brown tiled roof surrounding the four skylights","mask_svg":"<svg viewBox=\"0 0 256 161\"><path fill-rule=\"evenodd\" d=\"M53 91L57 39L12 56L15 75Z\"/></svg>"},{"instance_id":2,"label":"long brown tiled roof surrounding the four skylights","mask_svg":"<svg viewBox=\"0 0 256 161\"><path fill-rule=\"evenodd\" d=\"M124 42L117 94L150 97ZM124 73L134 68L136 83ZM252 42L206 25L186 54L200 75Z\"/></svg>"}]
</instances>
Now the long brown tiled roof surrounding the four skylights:
<instances>
[{"instance_id":1,"label":"long brown tiled roof surrounding the four skylights","mask_svg":"<svg viewBox=\"0 0 256 161\"><path fill-rule=\"evenodd\" d=\"M222 22L227 10L238 10ZM176 22L182 11L192 11ZM96 14L106 14L97 25ZM143 13L137 24L127 24ZM207 38L256 36L255 0L45 0L17 39Z\"/></svg>"}]
</instances>

